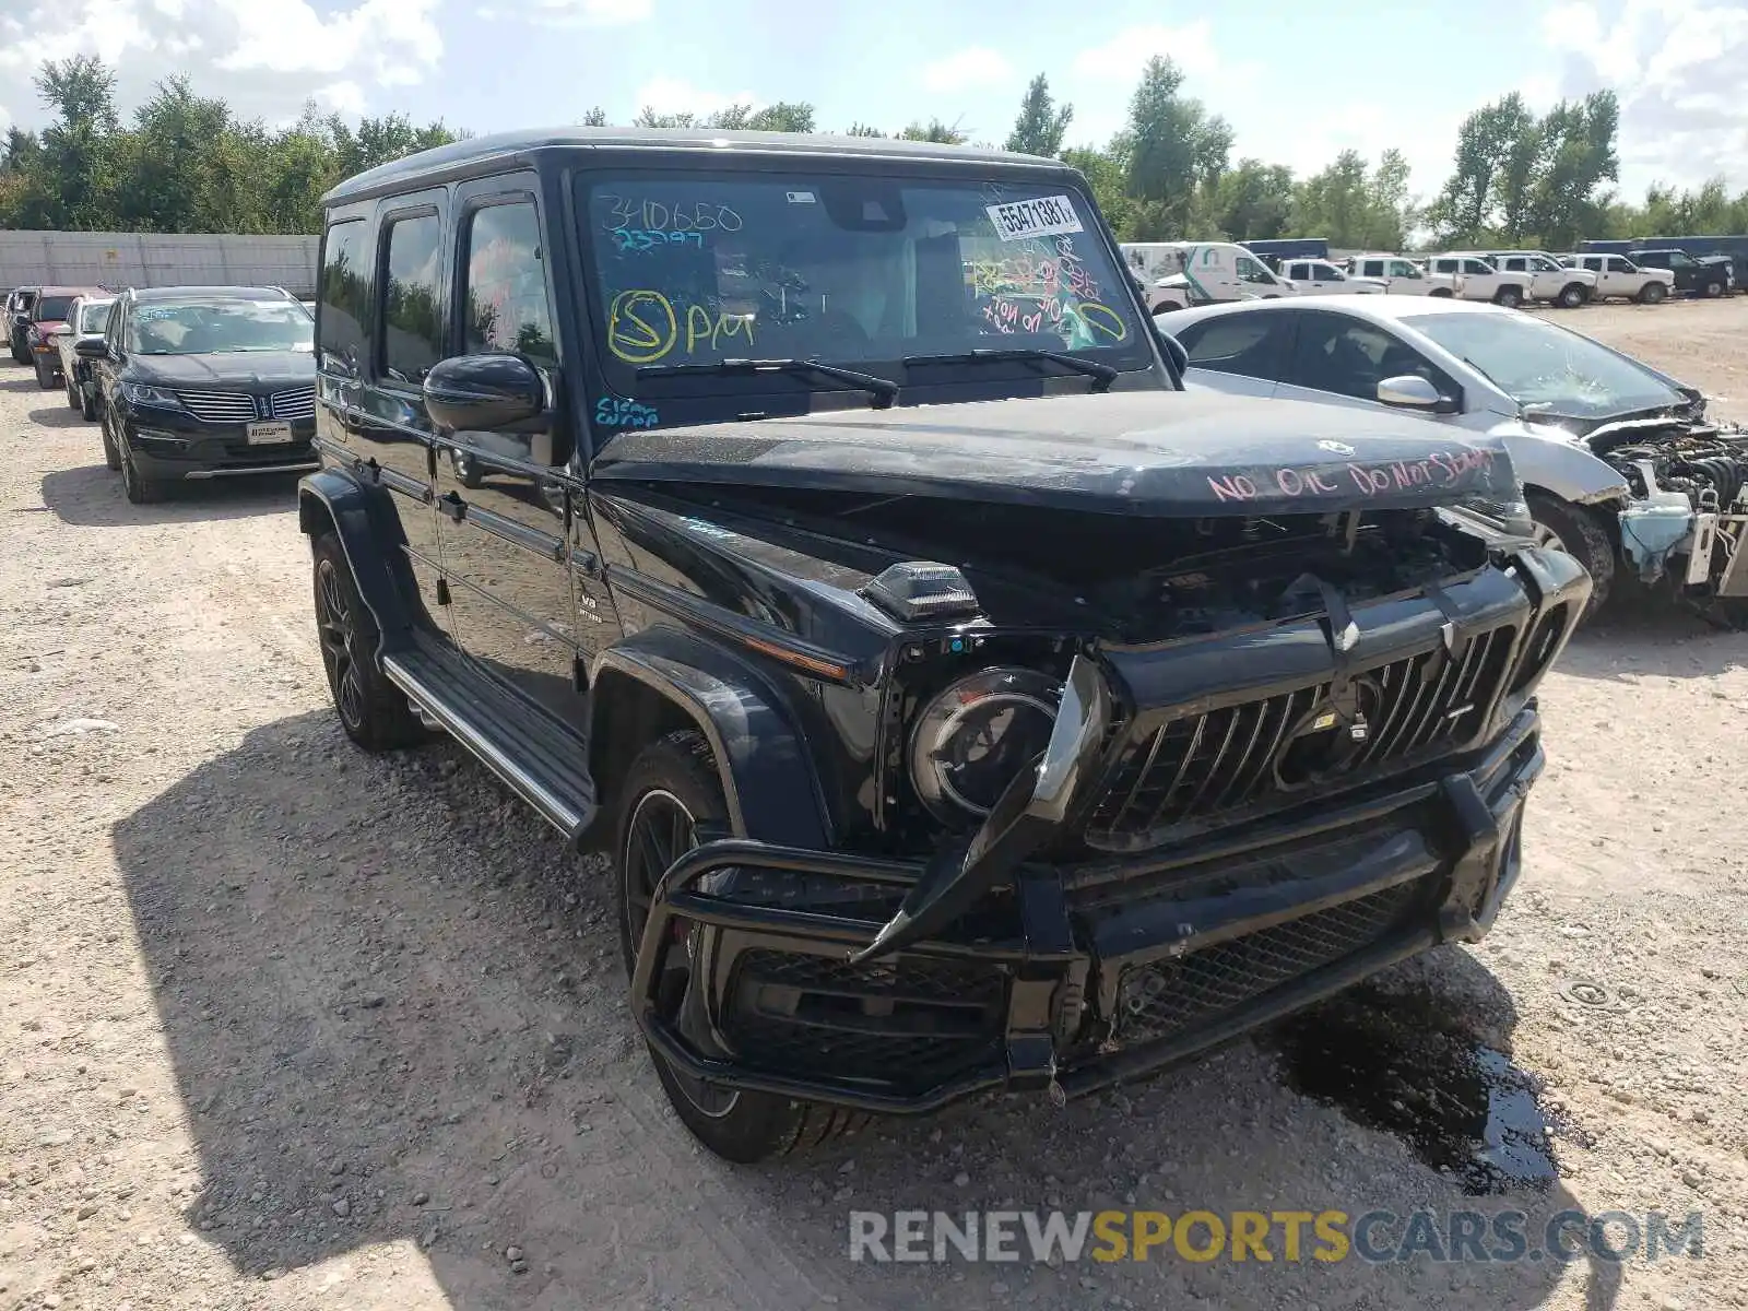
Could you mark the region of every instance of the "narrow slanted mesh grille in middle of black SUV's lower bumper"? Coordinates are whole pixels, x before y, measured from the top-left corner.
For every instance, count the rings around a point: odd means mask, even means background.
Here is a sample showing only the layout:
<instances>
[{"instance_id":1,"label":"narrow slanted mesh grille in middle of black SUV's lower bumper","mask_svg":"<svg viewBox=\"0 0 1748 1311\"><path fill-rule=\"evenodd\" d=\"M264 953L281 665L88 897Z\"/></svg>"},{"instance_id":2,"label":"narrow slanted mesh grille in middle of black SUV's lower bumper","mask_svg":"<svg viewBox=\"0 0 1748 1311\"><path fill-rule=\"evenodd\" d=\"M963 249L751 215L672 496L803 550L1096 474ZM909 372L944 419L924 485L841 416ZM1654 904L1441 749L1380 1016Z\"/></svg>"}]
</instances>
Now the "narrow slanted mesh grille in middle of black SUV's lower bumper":
<instances>
[{"instance_id":1,"label":"narrow slanted mesh grille in middle of black SUV's lower bumper","mask_svg":"<svg viewBox=\"0 0 1748 1311\"><path fill-rule=\"evenodd\" d=\"M1117 984L1117 1035L1126 1044L1169 1038L1334 965L1397 928L1418 893L1418 883L1398 883L1273 928L1126 970Z\"/></svg>"}]
</instances>

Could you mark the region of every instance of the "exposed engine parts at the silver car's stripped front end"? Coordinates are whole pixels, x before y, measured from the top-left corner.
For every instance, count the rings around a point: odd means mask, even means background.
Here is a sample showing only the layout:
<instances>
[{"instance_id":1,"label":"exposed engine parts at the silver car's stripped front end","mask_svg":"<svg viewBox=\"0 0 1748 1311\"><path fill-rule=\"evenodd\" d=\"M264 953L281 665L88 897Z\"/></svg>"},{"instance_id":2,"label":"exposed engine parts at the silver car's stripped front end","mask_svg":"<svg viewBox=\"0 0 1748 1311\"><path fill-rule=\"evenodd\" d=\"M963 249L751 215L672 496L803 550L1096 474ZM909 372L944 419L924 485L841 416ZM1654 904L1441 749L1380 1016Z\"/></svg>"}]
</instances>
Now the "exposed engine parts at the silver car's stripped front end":
<instances>
[{"instance_id":1,"label":"exposed engine parts at the silver car's stripped front end","mask_svg":"<svg viewBox=\"0 0 1748 1311\"><path fill-rule=\"evenodd\" d=\"M1668 416L1606 423L1584 440L1633 489L1620 547L1643 582L1748 598L1748 430Z\"/></svg>"}]
</instances>

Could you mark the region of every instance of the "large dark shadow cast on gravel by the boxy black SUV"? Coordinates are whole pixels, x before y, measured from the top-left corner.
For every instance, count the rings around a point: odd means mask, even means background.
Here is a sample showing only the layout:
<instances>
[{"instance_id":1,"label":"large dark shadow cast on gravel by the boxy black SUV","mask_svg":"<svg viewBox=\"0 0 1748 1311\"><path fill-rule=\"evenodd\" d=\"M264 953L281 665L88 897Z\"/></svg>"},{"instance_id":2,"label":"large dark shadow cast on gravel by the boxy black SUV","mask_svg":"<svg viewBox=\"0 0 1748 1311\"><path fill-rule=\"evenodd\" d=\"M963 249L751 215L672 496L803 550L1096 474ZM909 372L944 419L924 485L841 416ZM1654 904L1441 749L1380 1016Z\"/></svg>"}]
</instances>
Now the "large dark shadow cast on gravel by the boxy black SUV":
<instances>
[{"instance_id":1,"label":"large dark shadow cast on gravel by the boxy black SUV","mask_svg":"<svg viewBox=\"0 0 1748 1311\"><path fill-rule=\"evenodd\" d=\"M1517 1208L1540 1248L1547 1217L1577 1203L1557 1182L1468 1196L1391 1133L1290 1091L1299 1063L1281 1031L1061 1110L984 1098L727 1166L687 1138L633 1040L598 862L456 746L365 757L329 713L255 729L112 839L199 1154L187 1218L250 1274L399 1241L407 1255L393 1260L421 1252L458 1311L1528 1311L1561 1278L1589 1280L1594 1311L1619 1292L1608 1264L1316 1260L1309 1229L1288 1259L1280 1227L1269 1264L1197 1264L1169 1245L1147 1262L1061 1269L951 1248L951 1269L853 1264L851 1210L1398 1213L1370 1234L1376 1248L1400 1245L1414 1210L1444 1232L1453 1211ZM1467 953L1442 949L1381 986L1384 1002L1349 1012L1414 995L1509 1051L1510 998Z\"/></svg>"}]
</instances>

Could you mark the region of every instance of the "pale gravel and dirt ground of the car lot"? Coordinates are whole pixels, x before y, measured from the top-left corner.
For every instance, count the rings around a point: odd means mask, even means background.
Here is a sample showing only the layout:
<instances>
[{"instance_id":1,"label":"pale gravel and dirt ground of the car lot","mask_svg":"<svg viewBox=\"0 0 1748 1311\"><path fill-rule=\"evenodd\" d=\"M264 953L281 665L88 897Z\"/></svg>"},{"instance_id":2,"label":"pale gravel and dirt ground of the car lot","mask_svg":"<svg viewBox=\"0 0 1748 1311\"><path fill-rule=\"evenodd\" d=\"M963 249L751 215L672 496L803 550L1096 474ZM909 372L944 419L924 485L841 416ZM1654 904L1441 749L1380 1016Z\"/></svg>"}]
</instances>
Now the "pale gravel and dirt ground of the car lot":
<instances>
[{"instance_id":1,"label":"pale gravel and dirt ground of the car lot","mask_svg":"<svg viewBox=\"0 0 1748 1311\"><path fill-rule=\"evenodd\" d=\"M1561 322L1748 418L1748 301ZM1748 1306L1748 636L1575 643L1521 890L1393 1000L738 1169L633 1042L601 871L454 746L341 736L288 486L129 507L10 364L0 442L0 1308ZM1536 1087L1557 1178L1426 1164ZM851 1208L998 1206L1701 1210L1704 1257L848 1260Z\"/></svg>"}]
</instances>

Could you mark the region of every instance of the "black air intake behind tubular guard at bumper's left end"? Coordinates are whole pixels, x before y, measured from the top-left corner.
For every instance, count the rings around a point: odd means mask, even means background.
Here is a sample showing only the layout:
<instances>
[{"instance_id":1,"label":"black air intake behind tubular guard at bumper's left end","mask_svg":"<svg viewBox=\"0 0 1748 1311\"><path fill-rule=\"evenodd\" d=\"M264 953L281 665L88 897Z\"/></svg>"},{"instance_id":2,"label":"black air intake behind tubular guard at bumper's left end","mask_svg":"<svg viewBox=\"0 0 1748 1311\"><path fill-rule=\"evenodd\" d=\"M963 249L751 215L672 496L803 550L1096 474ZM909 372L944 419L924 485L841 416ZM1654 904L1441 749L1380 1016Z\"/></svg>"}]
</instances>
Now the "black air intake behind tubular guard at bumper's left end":
<instances>
[{"instance_id":1,"label":"black air intake behind tubular guard at bumper's left end","mask_svg":"<svg viewBox=\"0 0 1748 1311\"><path fill-rule=\"evenodd\" d=\"M921 1089L989 1058L1005 991L989 965L748 951L724 1033L755 1066Z\"/></svg>"}]
</instances>

